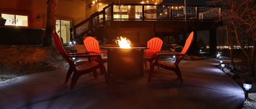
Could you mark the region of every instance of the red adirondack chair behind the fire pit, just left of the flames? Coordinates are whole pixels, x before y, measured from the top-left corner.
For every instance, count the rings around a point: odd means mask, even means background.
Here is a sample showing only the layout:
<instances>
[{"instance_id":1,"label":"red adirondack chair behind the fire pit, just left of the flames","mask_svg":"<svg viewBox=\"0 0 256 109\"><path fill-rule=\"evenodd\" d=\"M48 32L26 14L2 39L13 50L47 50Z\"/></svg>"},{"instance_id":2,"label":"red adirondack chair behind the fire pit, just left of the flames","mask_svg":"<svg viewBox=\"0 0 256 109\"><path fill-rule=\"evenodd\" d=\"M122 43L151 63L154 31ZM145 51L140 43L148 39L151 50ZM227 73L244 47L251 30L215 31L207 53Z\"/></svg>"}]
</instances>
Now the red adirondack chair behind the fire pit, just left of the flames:
<instances>
[{"instance_id":1,"label":"red adirondack chair behind the fire pit, just left of the flames","mask_svg":"<svg viewBox=\"0 0 256 109\"><path fill-rule=\"evenodd\" d=\"M92 36L87 36L84 39L84 46L87 50L88 53L90 54L102 54L102 53L106 53L106 50L100 50L99 48L99 42L98 40L96 40L94 37ZM108 57L102 57L103 62L107 62Z\"/></svg>"}]
</instances>

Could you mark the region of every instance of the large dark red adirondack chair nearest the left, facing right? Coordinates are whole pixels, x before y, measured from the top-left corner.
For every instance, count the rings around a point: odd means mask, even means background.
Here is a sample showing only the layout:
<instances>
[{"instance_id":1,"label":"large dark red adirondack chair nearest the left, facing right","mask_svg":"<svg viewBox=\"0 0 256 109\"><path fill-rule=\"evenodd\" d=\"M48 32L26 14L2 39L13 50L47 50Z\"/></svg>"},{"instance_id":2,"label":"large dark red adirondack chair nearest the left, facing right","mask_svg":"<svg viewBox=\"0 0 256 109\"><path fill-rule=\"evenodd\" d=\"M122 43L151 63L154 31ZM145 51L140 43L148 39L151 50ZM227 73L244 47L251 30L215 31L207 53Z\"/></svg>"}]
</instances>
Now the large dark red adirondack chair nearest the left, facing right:
<instances>
[{"instance_id":1,"label":"large dark red adirondack chair nearest the left, facing right","mask_svg":"<svg viewBox=\"0 0 256 109\"><path fill-rule=\"evenodd\" d=\"M73 73L72 81L70 85L70 89L73 89L76 82L78 81L79 77L83 74L91 73L93 72L93 75L95 78L97 78L97 72L96 70L100 68L100 72L102 72L105 75L105 81L108 84L108 78L106 74L105 66L103 65L102 57L99 54L89 55L88 53L66 53L64 50L61 39L56 33L55 29L52 29L53 34L53 40L55 42L55 46L58 49L58 52L62 55L62 57L68 62L69 69L68 73L66 75L65 83L68 82L68 79L70 78L70 75ZM88 61L81 61L78 63L75 63L72 59L72 57L88 57ZM96 61L91 61L91 57L96 57Z\"/></svg>"}]
</instances>

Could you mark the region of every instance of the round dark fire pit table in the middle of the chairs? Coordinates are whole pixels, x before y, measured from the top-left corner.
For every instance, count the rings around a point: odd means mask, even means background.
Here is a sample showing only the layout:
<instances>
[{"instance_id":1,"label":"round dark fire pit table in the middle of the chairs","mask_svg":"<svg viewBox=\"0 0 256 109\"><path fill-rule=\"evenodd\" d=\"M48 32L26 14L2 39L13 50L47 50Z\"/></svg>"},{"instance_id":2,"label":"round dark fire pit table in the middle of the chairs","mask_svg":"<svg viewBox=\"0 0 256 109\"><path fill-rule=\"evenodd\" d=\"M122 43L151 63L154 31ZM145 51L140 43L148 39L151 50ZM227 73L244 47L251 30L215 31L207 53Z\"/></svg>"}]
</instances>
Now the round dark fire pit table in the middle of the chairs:
<instances>
[{"instance_id":1,"label":"round dark fire pit table in the middle of the chairs","mask_svg":"<svg viewBox=\"0 0 256 109\"><path fill-rule=\"evenodd\" d=\"M146 47L104 47L108 50L108 73L122 78L144 75L144 49Z\"/></svg>"}]
</instances>

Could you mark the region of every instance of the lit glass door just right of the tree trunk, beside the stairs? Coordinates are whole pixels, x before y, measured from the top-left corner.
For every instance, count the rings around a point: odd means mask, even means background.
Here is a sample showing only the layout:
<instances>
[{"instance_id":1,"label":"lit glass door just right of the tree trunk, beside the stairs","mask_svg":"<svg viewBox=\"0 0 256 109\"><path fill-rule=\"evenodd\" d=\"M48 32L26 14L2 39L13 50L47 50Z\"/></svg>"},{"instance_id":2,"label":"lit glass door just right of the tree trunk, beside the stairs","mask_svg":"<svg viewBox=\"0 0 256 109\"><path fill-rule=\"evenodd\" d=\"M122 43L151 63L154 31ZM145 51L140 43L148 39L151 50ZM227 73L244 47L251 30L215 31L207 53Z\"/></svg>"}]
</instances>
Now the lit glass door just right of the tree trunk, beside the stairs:
<instances>
[{"instance_id":1,"label":"lit glass door just right of the tree trunk, beside the stairs","mask_svg":"<svg viewBox=\"0 0 256 109\"><path fill-rule=\"evenodd\" d=\"M72 36L70 36L71 21L56 20L56 32L61 37L62 43L69 43Z\"/></svg>"}]
</instances>

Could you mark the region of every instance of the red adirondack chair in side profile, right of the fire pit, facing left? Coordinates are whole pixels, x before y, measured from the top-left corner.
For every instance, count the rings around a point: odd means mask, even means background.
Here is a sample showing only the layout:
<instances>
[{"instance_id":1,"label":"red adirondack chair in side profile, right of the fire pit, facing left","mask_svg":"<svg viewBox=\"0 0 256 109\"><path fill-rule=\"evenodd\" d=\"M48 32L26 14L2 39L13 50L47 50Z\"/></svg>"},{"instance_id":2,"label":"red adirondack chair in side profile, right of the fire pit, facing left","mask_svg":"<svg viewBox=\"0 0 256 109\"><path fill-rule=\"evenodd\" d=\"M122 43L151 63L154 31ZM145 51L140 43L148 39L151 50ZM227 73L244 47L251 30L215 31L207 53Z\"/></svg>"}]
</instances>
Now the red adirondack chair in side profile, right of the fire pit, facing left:
<instances>
[{"instance_id":1,"label":"red adirondack chair in side profile, right of the fire pit, facing left","mask_svg":"<svg viewBox=\"0 0 256 109\"><path fill-rule=\"evenodd\" d=\"M152 62L151 66L150 66L150 74L148 75L148 81L151 80L152 77L152 73L154 70L154 66L159 66L161 68L164 69L169 69L172 70L176 73L176 75L178 76L178 79L180 79L181 83L183 83L182 80L182 76L181 76L181 71L180 68L178 67L178 63L180 63L180 61L182 60L182 58L184 57L184 55L187 53L187 50L190 48L192 41L193 41L193 36L194 33L193 31L189 34L186 43L182 49L181 52L160 52L157 53L156 55L156 59ZM164 60L159 60L159 55L175 55L176 59L175 62L171 62L171 61L164 61Z\"/></svg>"}]
</instances>

